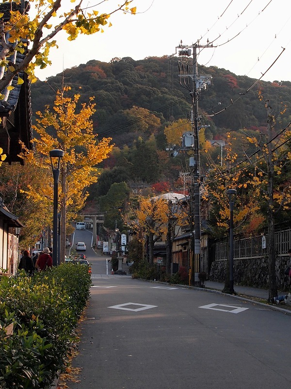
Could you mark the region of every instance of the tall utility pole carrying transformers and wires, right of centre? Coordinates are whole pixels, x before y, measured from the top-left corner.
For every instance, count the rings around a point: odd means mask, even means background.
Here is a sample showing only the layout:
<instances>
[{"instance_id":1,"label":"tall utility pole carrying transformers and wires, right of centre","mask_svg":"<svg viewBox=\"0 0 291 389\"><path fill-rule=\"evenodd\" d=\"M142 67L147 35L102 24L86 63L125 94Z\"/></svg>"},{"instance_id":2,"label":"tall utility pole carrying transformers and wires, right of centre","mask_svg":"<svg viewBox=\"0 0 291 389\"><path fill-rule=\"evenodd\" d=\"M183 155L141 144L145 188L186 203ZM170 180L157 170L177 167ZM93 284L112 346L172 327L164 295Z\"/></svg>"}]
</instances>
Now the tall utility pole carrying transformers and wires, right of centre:
<instances>
[{"instance_id":1,"label":"tall utility pole carrying transformers and wires, right of centre","mask_svg":"<svg viewBox=\"0 0 291 389\"><path fill-rule=\"evenodd\" d=\"M202 46L198 43L192 45L193 63L192 73L191 66L188 63L188 57L191 56L191 49L181 44L176 47L178 49L179 61L179 79L183 88L189 90L192 98L191 111L191 127L193 142L188 146L187 142L182 145L182 149L193 150L193 158L190 159L191 171L191 188L190 188L190 210L191 210L191 285L199 283L198 273L201 271L201 217L200 217L200 158L199 158L199 138L198 133L200 128L201 115L198 114L198 99L201 89L206 89L211 83L211 76L199 75L197 65L197 49L213 48L213 45ZM191 82L192 81L192 82ZM183 136L186 134L183 134ZM184 138L184 137L183 137ZM185 139L185 138L184 138ZM194 231L193 231L194 228Z\"/></svg>"}]
</instances>

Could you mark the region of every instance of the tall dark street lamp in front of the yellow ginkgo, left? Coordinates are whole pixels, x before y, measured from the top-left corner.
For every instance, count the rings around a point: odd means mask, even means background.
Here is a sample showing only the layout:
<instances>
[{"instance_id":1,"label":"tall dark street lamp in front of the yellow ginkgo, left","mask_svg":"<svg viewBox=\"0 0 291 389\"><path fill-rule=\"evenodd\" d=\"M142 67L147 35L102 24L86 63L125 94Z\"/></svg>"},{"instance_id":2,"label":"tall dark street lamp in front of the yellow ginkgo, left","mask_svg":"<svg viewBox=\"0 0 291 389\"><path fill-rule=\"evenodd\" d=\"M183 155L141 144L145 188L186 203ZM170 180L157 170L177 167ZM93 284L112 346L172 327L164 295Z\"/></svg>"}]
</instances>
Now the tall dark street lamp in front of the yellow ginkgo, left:
<instances>
[{"instance_id":1,"label":"tall dark street lamp in front of the yellow ginkgo, left","mask_svg":"<svg viewBox=\"0 0 291 389\"><path fill-rule=\"evenodd\" d=\"M53 175L53 235L52 235L52 264L57 266L58 260L58 183L60 177L61 158L64 151L59 149L49 152L51 170Z\"/></svg>"}]
</instances>

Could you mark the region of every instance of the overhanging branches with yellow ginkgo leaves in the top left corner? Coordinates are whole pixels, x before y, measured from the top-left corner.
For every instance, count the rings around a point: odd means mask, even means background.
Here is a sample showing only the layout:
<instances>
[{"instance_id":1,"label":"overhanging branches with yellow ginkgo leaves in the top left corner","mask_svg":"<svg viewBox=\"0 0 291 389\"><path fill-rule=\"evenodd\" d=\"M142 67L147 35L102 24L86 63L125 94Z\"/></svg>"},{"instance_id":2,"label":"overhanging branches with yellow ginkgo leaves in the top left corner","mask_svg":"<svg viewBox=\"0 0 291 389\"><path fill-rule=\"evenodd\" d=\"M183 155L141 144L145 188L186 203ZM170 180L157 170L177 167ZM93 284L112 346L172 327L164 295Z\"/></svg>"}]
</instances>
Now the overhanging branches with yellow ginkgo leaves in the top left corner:
<instances>
[{"instance_id":1,"label":"overhanging branches with yellow ginkgo leaves in the top left corner","mask_svg":"<svg viewBox=\"0 0 291 389\"><path fill-rule=\"evenodd\" d=\"M55 38L62 30L66 32L68 40L74 40L80 34L103 32L105 25L111 26L108 19L115 12L135 14L135 7L129 9L131 2L124 1L116 5L113 11L99 14L97 10L88 8L87 3L83 5L83 0L71 0L71 3L75 3L72 8L64 0L23 1L21 5L20 1L8 1L7 4L11 4L8 15L0 15L0 60L1 66L6 68L0 80L0 90L4 90L22 71L28 74L32 82L35 81L35 68L43 69L50 65L50 48L57 47ZM34 7L30 10L32 3ZM19 62L13 62L11 58L17 52L25 55ZM19 76L16 80L18 84L23 83Z\"/></svg>"}]
</instances>

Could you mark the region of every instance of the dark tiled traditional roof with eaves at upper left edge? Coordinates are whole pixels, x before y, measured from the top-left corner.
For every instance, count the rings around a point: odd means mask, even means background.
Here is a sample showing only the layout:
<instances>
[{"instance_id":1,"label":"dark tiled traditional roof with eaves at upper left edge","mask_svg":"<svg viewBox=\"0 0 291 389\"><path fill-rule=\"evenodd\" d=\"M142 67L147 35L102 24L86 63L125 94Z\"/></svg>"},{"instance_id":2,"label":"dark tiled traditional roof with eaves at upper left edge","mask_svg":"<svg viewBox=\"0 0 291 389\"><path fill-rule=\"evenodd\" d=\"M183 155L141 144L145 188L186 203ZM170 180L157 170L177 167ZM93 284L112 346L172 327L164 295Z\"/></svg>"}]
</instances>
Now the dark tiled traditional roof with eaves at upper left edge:
<instances>
[{"instance_id":1,"label":"dark tiled traditional roof with eaves at upper left edge","mask_svg":"<svg viewBox=\"0 0 291 389\"><path fill-rule=\"evenodd\" d=\"M24 13L27 11L28 2L21 0L21 3L6 2L0 4L0 13L3 13L2 19L4 21L9 20L11 7L13 10L19 10ZM23 41L27 43L26 37ZM0 51L2 45L0 44ZM27 52L27 46L26 46ZM19 53L15 51L8 60L11 64L17 64L21 62L26 55L26 52ZM5 75L5 67L0 67L0 79ZM23 79L23 84L18 85L18 77ZM20 162L23 164L23 160L18 157L18 154L22 151L19 141L22 141L28 149L32 148L32 109L31 109L31 92L30 82L27 78L27 74L22 71L16 74L11 81L12 90L5 88L1 91L4 98L0 100L0 147L6 154L4 162Z\"/></svg>"}]
</instances>

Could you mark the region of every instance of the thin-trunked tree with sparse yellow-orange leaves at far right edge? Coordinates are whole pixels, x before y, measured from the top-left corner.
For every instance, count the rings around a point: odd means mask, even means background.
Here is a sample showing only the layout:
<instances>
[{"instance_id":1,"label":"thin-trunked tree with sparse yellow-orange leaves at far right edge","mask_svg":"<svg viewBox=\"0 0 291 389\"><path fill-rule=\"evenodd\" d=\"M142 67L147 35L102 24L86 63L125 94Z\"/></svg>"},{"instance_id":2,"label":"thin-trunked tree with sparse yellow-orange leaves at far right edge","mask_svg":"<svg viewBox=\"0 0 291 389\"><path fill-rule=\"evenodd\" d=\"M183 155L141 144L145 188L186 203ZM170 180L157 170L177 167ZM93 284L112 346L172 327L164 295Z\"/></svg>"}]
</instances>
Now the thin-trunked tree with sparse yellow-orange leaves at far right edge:
<instances>
[{"instance_id":1,"label":"thin-trunked tree with sparse yellow-orange leaves at far right edge","mask_svg":"<svg viewBox=\"0 0 291 389\"><path fill-rule=\"evenodd\" d=\"M259 92L259 99L263 100ZM255 183L259 194L267 202L267 223L268 223L268 276L269 276L269 298L278 295L276 283L276 253L275 253L275 217L276 214L290 210L291 207L291 177L282 173L287 166L290 166L291 150L290 123L281 131L275 131L276 117L272 111L269 100L265 100L267 110L267 134L260 134L259 139L248 137L251 143L258 148L256 155L256 177ZM285 112L282 107L280 114Z\"/></svg>"}]
</instances>

